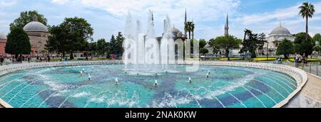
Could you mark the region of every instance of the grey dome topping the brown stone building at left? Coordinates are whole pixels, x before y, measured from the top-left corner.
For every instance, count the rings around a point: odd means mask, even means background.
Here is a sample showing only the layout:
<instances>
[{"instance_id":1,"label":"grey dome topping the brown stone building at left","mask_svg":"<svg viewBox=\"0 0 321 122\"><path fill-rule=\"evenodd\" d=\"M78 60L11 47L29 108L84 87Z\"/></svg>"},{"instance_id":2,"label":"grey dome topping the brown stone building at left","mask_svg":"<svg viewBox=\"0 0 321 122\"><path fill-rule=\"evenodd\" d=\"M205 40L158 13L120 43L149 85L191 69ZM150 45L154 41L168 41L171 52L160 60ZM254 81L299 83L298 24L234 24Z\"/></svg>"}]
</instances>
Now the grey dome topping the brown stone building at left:
<instances>
[{"instance_id":1,"label":"grey dome topping the brown stone building at left","mask_svg":"<svg viewBox=\"0 0 321 122\"><path fill-rule=\"evenodd\" d=\"M48 28L43 23L40 23L36 16L34 17L34 21L31 21L24 26L24 30L26 32L49 32Z\"/></svg>"}]
</instances>

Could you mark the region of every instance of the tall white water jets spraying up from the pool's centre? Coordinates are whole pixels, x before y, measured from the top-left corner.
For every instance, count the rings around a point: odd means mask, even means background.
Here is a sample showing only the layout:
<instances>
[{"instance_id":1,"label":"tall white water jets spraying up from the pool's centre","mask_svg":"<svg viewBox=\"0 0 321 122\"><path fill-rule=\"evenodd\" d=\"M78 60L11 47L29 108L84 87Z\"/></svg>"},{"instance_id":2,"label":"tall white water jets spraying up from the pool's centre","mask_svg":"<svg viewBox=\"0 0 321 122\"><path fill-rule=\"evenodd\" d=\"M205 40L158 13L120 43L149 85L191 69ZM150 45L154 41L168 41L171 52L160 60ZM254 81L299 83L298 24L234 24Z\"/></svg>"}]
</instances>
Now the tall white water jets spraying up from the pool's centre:
<instances>
[{"instance_id":1,"label":"tall white water jets spraying up from the pool's centre","mask_svg":"<svg viewBox=\"0 0 321 122\"><path fill-rule=\"evenodd\" d=\"M124 35L126 39L123 43L125 49L123 62L126 71L134 74L138 74L136 72L155 74L160 72L161 68L167 73L170 71L168 70L168 64L175 64L175 45L168 16L164 20L162 37L156 38L153 11L148 13L146 34L141 31L141 21L137 20L134 23L131 13L128 12Z\"/></svg>"}]
</instances>

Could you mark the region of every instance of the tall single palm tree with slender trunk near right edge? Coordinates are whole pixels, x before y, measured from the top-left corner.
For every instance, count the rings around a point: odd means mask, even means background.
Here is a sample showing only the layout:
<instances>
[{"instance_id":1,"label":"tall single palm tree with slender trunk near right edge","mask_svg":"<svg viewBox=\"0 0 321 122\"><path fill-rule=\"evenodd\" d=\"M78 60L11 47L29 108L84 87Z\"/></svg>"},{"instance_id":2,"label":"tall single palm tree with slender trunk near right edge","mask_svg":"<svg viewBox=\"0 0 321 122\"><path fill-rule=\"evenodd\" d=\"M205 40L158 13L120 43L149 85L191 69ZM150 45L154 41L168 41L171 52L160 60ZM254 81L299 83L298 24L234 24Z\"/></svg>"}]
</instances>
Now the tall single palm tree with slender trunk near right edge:
<instances>
[{"instance_id":1,"label":"tall single palm tree with slender trunk near right edge","mask_svg":"<svg viewBox=\"0 0 321 122\"><path fill-rule=\"evenodd\" d=\"M308 2L303 3L300 7L300 16L302 18L305 18L305 39L307 40L307 35L308 35L308 21L309 18L312 18L313 14L315 13L315 6L313 6L311 3L309 4Z\"/></svg>"}]
</instances>

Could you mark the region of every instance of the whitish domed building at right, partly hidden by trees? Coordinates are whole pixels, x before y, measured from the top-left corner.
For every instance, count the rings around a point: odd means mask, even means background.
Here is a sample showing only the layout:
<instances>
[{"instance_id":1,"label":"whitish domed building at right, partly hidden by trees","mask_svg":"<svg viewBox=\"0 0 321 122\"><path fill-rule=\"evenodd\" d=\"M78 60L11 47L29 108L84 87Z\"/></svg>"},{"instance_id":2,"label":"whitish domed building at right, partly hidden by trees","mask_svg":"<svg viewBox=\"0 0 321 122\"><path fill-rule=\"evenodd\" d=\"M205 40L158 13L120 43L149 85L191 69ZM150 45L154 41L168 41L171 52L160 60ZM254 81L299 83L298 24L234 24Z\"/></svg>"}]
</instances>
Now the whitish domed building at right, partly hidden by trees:
<instances>
[{"instance_id":1,"label":"whitish domed building at right, partly hidden by trees","mask_svg":"<svg viewBox=\"0 0 321 122\"><path fill-rule=\"evenodd\" d=\"M295 37L290 33L287 28L282 27L281 23L280 26L274 28L272 32L267 36L267 43L265 43L263 47L263 53L267 54L267 51L270 50L268 53L269 55L275 55L277 46L283 39L291 40L294 42Z\"/></svg>"}]
</instances>

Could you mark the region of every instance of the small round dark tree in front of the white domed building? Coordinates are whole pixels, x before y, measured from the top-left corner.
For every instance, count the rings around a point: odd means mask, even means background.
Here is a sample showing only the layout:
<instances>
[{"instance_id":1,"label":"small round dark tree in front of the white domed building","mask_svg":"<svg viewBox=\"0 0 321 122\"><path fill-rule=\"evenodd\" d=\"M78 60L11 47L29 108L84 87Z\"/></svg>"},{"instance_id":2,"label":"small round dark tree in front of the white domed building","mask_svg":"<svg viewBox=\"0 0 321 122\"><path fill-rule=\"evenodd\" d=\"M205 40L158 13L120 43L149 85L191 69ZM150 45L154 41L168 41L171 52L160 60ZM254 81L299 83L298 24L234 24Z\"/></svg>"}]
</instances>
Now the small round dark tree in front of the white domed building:
<instances>
[{"instance_id":1,"label":"small round dark tree in front of the white domed building","mask_svg":"<svg viewBox=\"0 0 321 122\"><path fill-rule=\"evenodd\" d=\"M284 55L287 59L289 58L290 54L294 52L294 45L290 40L286 38L281 41L281 43L277 46L277 55Z\"/></svg>"}]
</instances>

